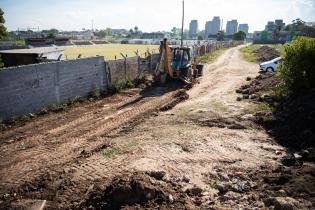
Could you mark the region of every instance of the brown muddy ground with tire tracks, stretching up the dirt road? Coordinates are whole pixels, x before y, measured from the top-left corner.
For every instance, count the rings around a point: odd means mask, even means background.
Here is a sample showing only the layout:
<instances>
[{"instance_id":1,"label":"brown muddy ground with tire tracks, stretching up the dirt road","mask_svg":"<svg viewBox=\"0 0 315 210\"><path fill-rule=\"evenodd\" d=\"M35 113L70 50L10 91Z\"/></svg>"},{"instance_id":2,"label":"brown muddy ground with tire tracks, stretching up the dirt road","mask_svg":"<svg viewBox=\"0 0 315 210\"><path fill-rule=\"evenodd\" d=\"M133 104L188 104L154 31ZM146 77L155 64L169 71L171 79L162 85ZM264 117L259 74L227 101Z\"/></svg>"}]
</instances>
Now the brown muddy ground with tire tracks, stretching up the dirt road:
<instances>
[{"instance_id":1,"label":"brown muddy ground with tire tracks, stretching up the dirt road","mask_svg":"<svg viewBox=\"0 0 315 210\"><path fill-rule=\"evenodd\" d=\"M281 188L301 177L281 162L288 149L255 123L257 104L236 101L258 75L239 48L191 90L134 89L3 131L0 208L314 208L309 185Z\"/></svg>"}]
</instances>

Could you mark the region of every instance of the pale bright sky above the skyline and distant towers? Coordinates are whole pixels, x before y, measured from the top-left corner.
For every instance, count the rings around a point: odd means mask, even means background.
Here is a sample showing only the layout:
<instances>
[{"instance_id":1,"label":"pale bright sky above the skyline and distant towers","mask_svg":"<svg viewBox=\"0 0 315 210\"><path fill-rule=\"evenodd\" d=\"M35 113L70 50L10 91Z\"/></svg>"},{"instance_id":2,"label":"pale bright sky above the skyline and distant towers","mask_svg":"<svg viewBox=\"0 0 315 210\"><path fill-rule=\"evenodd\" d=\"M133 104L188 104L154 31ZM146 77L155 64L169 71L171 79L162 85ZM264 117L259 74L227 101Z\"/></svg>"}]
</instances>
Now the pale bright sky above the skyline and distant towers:
<instances>
[{"instance_id":1,"label":"pale bright sky above the skyline and distant towers","mask_svg":"<svg viewBox=\"0 0 315 210\"><path fill-rule=\"evenodd\" d=\"M125 28L170 31L181 27L181 0L0 0L8 30L56 28L82 30ZM263 30L267 21L315 21L315 0L185 0L185 28L197 19L199 29L213 16L248 23L250 32Z\"/></svg>"}]
</instances>

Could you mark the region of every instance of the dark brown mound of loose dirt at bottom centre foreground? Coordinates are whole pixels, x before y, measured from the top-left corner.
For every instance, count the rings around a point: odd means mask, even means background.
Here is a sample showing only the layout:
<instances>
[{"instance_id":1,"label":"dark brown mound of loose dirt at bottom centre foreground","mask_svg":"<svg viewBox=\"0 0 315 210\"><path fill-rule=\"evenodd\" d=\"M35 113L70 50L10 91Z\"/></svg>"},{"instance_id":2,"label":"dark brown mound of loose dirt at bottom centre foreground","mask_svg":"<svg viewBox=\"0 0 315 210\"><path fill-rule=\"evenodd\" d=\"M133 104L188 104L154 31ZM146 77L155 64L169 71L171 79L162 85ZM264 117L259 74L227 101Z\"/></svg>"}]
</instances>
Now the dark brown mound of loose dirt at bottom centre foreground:
<instances>
[{"instance_id":1,"label":"dark brown mound of loose dirt at bottom centre foreground","mask_svg":"<svg viewBox=\"0 0 315 210\"><path fill-rule=\"evenodd\" d=\"M97 186L75 209L194 209L176 183L163 181L161 173L134 172Z\"/></svg>"}]
</instances>

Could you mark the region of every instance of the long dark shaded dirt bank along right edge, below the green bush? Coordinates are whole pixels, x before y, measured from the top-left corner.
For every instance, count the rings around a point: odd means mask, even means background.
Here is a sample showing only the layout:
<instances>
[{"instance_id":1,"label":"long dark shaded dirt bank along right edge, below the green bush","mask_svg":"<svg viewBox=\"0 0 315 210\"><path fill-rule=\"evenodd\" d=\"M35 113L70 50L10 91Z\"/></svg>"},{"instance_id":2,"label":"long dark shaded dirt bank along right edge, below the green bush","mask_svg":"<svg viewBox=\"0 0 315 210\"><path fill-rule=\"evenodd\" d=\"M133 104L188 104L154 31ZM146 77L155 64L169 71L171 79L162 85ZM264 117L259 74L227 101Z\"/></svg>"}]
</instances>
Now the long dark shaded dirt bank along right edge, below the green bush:
<instances>
[{"instance_id":1,"label":"long dark shaded dirt bank along right edge, below the green bush","mask_svg":"<svg viewBox=\"0 0 315 210\"><path fill-rule=\"evenodd\" d=\"M258 190L265 195L265 206L311 209L315 203L315 89L287 98L270 95L280 83L272 73L260 74L237 90L239 93L254 90L252 94L257 97L248 98L267 104L268 109L256 112L254 122L287 148L286 154L278 159L279 167L262 177ZM283 155L280 151L276 154Z\"/></svg>"}]
</instances>

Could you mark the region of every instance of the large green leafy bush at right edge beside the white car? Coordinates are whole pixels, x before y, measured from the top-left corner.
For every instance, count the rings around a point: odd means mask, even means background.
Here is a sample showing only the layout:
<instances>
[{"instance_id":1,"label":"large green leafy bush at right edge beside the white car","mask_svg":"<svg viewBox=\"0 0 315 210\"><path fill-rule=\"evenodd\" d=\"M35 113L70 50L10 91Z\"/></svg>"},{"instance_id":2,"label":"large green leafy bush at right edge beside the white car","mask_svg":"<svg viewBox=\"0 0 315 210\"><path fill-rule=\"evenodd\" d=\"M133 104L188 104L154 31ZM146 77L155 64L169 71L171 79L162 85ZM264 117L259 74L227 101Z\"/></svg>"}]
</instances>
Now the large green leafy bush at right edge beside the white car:
<instances>
[{"instance_id":1,"label":"large green leafy bush at right edge beside the white car","mask_svg":"<svg viewBox=\"0 0 315 210\"><path fill-rule=\"evenodd\" d=\"M297 37L285 46L279 77L290 94L301 94L315 88L315 39Z\"/></svg>"}]
</instances>

